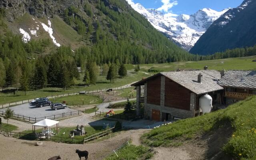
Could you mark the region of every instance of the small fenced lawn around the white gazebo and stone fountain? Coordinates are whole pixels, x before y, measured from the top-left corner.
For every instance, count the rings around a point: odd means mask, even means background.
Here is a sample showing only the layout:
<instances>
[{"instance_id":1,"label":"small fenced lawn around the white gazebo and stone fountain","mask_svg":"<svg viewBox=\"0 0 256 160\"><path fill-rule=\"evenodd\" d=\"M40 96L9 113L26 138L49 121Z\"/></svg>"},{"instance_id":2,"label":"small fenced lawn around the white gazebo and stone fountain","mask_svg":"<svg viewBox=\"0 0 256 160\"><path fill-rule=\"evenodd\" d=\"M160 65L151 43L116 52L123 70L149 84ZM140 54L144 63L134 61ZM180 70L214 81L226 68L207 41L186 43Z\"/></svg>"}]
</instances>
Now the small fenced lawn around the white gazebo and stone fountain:
<instances>
[{"instance_id":1,"label":"small fenced lawn around the white gazebo and stone fountain","mask_svg":"<svg viewBox=\"0 0 256 160\"><path fill-rule=\"evenodd\" d=\"M51 128L53 130L54 133L56 133L56 128ZM70 143L70 139L69 138L69 135L68 133L70 132L70 130L74 130L76 129L76 126L74 127L60 127L60 133L56 134L55 136L57 137L54 137L52 139L55 139L56 142L60 141L62 139L63 142L67 142L67 143ZM72 143L75 143L75 144L81 144L82 142L84 142L84 138L88 137L88 136L91 136L93 134L96 134L96 133L99 133L99 132L102 132L102 129L103 127L102 126L94 126L94 127L91 127L91 126L85 126L84 127L84 130L87 132L86 135L84 136L74 136L74 138L77 138L77 139L74 139L72 141ZM42 132L42 128L40 129L37 129L36 132ZM28 139L28 140L34 140L34 136L32 134L32 130L24 130L23 132L21 133L26 133L27 135L25 136L20 136L20 138L22 139ZM63 134L65 133L65 134ZM62 138L60 138L62 137Z\"/></svg>"}]
</instances>

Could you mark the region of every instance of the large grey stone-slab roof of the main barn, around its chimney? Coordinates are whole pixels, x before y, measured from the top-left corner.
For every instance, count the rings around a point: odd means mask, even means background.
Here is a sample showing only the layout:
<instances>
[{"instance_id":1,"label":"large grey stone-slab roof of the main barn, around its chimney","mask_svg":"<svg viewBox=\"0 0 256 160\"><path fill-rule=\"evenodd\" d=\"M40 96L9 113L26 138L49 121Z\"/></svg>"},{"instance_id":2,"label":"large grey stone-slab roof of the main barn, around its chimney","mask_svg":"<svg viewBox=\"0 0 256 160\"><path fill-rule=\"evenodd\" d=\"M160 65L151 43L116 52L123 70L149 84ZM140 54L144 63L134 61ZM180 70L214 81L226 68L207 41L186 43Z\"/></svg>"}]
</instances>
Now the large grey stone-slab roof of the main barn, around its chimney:
<instances>
[{"instance_id":1,"label":"large grey stone-slab roof of the main barn, around its chimney","mask_svg":"<svg viewBox=\"0 0 256 160\"><path fill-rule=\"evenodd\" d=\"M161 72L160 74L184 86L195 94L204 94L216 90L222 90L223 87L218 85L220 72L216 70L198 70L184 72ZM198 83L198 74L202 74L202 83Z\"/></svg>"}]
</instances>

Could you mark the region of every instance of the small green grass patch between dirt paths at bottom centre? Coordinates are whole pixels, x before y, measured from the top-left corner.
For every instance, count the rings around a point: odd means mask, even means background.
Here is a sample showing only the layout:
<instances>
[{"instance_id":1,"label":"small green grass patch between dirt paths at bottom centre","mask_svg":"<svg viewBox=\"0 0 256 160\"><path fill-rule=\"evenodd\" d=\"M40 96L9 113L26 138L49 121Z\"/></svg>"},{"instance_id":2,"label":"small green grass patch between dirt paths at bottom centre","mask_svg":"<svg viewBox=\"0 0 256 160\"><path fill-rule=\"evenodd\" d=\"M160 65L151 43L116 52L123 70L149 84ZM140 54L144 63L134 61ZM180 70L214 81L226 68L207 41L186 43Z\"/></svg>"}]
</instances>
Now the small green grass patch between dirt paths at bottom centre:
<instances>
[{"instance_id":1,"label":"small green grass patch between dirt paths at bottom centre","mask_svg":"<svg viewBox=\"0 0 256 160\"><path fill-rule=\"evenodd\" d=\"M126 144L120 150L110 154L104 160L147 160L153 156L153 153L148 151L149 148L145 146L135 146Z\"/></svg>"}]
</instances>

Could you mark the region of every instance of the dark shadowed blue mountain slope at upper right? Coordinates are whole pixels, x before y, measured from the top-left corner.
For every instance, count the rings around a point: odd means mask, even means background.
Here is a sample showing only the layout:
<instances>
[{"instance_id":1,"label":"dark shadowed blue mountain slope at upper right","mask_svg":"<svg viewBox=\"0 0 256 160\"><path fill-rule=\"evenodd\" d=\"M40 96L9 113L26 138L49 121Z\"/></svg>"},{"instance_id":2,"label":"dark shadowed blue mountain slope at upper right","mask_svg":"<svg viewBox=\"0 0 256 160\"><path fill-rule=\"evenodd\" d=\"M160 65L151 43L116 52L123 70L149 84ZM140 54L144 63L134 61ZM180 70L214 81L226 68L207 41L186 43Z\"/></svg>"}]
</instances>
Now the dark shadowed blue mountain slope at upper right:
<instances>
[{"instance_id":1,"label":"dark shadowed blue mountain slope at upper right","mask_svg":"<svg viewBox=\"0 0 256 160\"><path fill-rule=\"evenodd\" d=\"M256 44L256 0L244 0L214 21L190 52L214 54Z\"/></svg>"}]
</instances>

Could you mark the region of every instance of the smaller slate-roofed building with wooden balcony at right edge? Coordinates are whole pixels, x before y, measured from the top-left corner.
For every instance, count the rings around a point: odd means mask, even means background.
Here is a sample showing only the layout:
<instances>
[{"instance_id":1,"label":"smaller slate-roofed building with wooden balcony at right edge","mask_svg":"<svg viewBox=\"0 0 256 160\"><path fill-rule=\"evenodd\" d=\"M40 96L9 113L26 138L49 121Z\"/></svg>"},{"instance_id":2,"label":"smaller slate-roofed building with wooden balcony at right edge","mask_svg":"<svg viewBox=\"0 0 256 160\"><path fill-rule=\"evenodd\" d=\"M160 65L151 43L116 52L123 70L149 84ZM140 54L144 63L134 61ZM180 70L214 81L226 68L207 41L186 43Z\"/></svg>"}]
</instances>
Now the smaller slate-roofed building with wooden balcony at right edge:
<instances>
[{"instance_id":1,"label":"smaller slate-roofed building with wooden balcony at right edge","mask_svg":"<svg viewBox=\"0 0 256 160\"><path fill-rule=\"evenodd\" d=\"M244 100L256 94L256 71L229 70L221 71L218 84L225 89L226 104Z\"/></svg>"}]
</instances>

